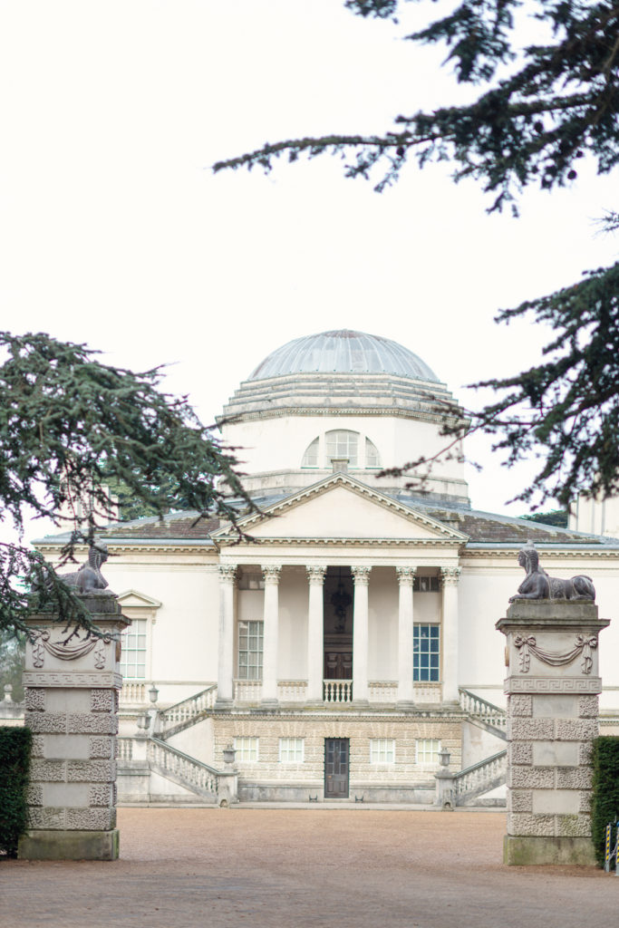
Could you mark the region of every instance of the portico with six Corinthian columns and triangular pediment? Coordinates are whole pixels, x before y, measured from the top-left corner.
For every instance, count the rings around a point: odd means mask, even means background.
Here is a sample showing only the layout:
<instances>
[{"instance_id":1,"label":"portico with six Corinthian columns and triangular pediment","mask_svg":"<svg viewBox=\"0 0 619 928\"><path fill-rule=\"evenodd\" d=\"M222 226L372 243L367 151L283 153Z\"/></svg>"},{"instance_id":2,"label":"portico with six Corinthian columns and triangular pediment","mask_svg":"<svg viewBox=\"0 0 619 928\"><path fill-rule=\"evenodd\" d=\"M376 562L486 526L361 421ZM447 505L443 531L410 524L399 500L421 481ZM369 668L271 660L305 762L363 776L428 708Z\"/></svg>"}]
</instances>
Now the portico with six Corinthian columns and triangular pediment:
<instances>
[{"instance_id":1,"label":"portico with six Corinthian columns and triangular pediment","mask_svg":"<svg viewBox=\"0 0 619 928\"><path fill-rule=\"evenodd\" d=\"M367 491L368 499L366 491L334 474L296 505L288 500L247 520L251 540L231 546L225 533L217 538L226 546L219 566L218 709L393 705L409 712L457 701L462 536L381 494ZM393 536L347 537L344 527L341 537L308 537L310 525L316 531L313 504L329 513L324 504L331 495L342 526L347 515L349 523L358 521L355 509L362 508L366 532L374 527L378 534L397 509L400 534L406 527L410 536L394 544ZM291 515L297 536L284 539Z\"/></svg>"}]
</instances>

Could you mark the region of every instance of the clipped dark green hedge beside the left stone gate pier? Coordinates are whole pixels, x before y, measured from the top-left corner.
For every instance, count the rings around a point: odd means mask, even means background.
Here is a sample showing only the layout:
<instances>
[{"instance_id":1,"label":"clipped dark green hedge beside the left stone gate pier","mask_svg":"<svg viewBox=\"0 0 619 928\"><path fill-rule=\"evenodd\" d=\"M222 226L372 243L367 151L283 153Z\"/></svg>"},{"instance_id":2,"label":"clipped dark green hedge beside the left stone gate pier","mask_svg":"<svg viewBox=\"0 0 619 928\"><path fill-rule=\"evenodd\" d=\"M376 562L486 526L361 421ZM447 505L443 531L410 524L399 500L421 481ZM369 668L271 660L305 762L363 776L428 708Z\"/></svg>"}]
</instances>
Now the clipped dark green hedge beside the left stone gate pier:
<instances>
[{"instance_id":1,"label":"clipped dark green hedge beside the left stone gate pier","mask_svg":"<svg viewBox=\"0 0 619 928\"><path fill-rule=\"evenodd\" d=\"M0 851L17 857L28 827L26 787L30 771L30 728L0 728Z\"/></svg>"}]
</instances>

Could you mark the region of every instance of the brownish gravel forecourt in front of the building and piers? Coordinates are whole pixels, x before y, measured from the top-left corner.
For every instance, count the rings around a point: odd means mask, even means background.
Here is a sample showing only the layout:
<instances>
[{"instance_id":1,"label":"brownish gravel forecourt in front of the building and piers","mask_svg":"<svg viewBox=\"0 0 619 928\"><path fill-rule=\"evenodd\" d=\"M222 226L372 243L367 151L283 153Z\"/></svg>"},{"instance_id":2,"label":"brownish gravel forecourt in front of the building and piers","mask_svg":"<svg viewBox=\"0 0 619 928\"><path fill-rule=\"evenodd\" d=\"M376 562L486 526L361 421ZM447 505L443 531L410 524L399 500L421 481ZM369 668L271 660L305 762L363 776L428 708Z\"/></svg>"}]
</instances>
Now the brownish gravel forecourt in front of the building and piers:
<instances>
[{"instance_id":1,"label":"brownish gravel forecourt in front of the building and piers","mask_svg":"<svg viewBox=\"0 0 619 928\"><path fill-rule=\"evenodd\" d=\"M614 928L619 879L504 867L505 816L123 808L116 862L0 863L2 928Z\"/></svg>"}]
</instances>

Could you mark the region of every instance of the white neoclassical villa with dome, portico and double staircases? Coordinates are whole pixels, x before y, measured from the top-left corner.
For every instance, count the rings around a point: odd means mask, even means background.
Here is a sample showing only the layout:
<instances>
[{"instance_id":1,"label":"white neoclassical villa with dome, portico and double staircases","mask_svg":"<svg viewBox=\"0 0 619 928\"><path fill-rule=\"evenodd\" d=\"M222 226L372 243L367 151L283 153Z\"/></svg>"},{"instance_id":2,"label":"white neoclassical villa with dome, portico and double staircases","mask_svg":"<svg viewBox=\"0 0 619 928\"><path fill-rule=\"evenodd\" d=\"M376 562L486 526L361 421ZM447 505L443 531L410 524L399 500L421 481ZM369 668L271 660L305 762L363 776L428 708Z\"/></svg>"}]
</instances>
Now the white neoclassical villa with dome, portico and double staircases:
<instances>
[{"instance_id":1,"label":"white neoclassical villa with dome, portico and double staircases","mask_svg":"<svg viewBox=\"0 0 619 928\"><path fill-rule=\"evenodd\" d=\"M549 573L590 575L614 619L619 541L472 508L458 455L439 456L413 489L410 476L377 479L437 456L454 410L402 345L347 330L297 339L220 419L261 510L241 519L246 538L187 512L106 530L106 576L133 620L122 733L135 733L153 684L161 710L148 776L123 748L124 795L199 794L230 744L248 799L432 802L441 749L468 771L463 795L496 786L495 623L522 579L519 549L531 539ZM38 547L54 558L61 542ZM600 654L606 730L618 645L613 622Z\"/></svg>"}]
</instances>

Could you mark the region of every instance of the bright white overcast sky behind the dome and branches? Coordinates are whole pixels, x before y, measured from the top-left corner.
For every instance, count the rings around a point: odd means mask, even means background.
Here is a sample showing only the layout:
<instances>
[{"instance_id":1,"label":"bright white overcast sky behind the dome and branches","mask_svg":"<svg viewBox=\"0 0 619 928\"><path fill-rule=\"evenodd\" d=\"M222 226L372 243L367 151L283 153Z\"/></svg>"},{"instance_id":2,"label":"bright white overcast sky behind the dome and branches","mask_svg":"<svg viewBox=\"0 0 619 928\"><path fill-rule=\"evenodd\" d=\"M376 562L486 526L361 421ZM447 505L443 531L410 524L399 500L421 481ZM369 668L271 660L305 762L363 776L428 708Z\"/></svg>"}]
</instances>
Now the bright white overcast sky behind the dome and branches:
<instances>
[{"instance_id":1,"label":"bright white overcast sky behind the dome and branches","mask_svg":"<svg viewBox=\"0 0 619 928\"><path fill-rule=\"evenodd\" d=\"M443 53L405 33L343 0L6 0L2 327L123 367L174 363L170 390L209 422L264 355L324 329L402 342L470 405L464 384L535 363L543 333L493 316L614 260L593 226L616 206L613 178L586 168L527 193L513 220L488 217L445 165L411 166L382 195L329 157L210 170L266 140L381 132L453 101ZM531 470L474 453L473 505L522 512L504 503Z\"/></svg>"}]
</instances>

